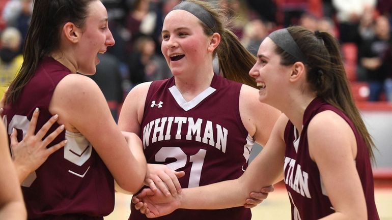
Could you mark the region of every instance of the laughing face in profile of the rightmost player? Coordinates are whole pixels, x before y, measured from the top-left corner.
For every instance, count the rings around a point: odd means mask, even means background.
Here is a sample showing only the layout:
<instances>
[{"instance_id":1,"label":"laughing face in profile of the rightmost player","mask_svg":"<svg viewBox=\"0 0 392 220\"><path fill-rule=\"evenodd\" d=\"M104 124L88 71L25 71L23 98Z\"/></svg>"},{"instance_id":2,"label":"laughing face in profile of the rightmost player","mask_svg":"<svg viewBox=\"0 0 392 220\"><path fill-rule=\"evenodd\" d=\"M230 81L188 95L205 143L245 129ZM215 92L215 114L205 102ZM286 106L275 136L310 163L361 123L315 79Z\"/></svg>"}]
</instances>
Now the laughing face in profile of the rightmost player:
<instances>
[{"instance_id":1,"label":"laughing face in profile of the rightmost player","mask_svg":"<svg viewBox=\"0 0 392 220\"><path fill-rule=\"evenodd\" d=\"M260 86L259 101L272 106L285 96L288 82L285 76L290 71L290 67L280 64L281 57L275 53L275 47L270 38L265 38L260 44L256 64L249 71L249 75Z\"/></svg>"}]
</instances>

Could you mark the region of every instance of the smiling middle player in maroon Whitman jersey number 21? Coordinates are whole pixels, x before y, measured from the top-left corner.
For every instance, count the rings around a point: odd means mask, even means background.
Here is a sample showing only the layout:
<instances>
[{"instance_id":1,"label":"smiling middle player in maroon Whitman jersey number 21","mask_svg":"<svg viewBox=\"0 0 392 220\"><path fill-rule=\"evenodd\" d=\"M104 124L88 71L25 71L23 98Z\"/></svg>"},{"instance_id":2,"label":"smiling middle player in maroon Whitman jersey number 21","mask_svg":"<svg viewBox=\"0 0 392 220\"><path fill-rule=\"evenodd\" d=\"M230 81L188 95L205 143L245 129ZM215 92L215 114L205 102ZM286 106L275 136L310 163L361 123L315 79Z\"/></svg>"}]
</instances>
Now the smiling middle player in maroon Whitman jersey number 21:
<instances>
[{"instance_id":1,"label":"smiling middle player in maroon Whitman jersey number 21","mask_svg":"<svg viewBox=\"0 0 392 220\"><path fill-rule=\"evenodd\" d=\"M161 50L174 76L134 87L120 113L120 129L139 134L143 141L148 162L146 184L167 195L176 194L181 187L241 176L251 147L255 142L265 145L281 114L256 102L258 90L243 84L256 87L248 75L256 59L223 26L219 16L199 1L173 8L164 19ZM215 54L225 78L213 72ZM173 171L184 176L177 179ZM250 218L250 209L245 207L177 210L161 217ZM131 207L130 219L146 216Z\"/></svg>"}]
</instances>

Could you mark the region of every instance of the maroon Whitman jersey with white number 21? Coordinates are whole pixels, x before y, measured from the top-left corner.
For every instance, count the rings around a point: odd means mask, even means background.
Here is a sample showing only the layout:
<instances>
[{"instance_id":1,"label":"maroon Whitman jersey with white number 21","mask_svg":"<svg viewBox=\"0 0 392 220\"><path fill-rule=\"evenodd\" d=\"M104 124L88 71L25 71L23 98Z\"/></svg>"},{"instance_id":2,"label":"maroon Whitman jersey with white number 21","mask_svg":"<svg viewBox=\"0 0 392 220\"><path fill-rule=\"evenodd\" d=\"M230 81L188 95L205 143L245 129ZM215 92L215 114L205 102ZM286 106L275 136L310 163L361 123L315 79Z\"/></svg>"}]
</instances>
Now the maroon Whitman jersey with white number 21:
<instances>
[{"instance_id":1,"label":"maroon Whitman jersey with white number 21","mask_svg":"<svg viewBox=\"0 0 392 220\"><path fill-rule=\"evenodd\" d=\"M155 81L147 93L142 134L147 163L185 171L181 186L196 187L240 177L253 140L239 114L241 84L214 75L211 85L186 102L174 77ZM224 189L222 189L224 190ZM159 219L250 219L250 209L179 209ZM147 219L131 205L130 219Z\"/></svg>"}]
</instances>

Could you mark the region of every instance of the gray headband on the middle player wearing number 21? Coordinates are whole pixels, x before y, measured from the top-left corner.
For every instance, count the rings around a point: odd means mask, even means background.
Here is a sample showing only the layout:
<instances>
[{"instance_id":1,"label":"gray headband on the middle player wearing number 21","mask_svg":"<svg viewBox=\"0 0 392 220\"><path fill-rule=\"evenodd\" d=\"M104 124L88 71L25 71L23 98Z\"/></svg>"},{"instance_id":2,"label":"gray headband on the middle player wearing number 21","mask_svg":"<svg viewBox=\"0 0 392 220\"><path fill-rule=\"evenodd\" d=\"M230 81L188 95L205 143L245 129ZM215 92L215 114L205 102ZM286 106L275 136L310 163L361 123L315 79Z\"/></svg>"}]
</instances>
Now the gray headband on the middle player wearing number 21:
<instances>
[{"instance_id":1,"label":"gray headband on the middle player wearing number 21","mask_svg":"<svg viewBox=\"0 0 392 220\"><path fill-rule=\"evenodd\" d=\"M191 2L186 2L182 1L180 4L176 5L175 7L172 8L172 10L184 10L192 15L196 16L201 20L203 23L205 23L211 30L215 29L215 19L212 17L212 15L206 11L203 7L201 7L198 4L191 3Z\"/></svg>"}]
</instances>

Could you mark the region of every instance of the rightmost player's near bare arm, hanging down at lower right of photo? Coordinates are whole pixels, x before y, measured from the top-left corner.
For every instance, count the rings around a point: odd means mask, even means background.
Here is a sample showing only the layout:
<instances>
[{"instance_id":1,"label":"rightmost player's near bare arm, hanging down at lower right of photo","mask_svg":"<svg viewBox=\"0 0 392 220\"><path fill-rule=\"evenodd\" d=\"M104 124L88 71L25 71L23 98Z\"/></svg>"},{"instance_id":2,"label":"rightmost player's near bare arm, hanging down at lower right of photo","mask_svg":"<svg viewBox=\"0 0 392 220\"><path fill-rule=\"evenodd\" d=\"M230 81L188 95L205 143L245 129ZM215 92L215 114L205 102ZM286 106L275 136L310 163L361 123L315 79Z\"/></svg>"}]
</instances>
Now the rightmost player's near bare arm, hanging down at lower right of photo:
<instances>
[{"instance_id":1,"label":"rightmost player's near bare arm, hanging down at lower right of photo","mask_svg":"<svg viewBox=\"0 0 392 220\"><path fill-rule=\"evenodd\" d=\"M365 196L354 161L355 136L347 122L336 113L325 111L312 119L307 134L310 155L335 210L322 219L367 219Z\"/></svg>"}]
</instances>

